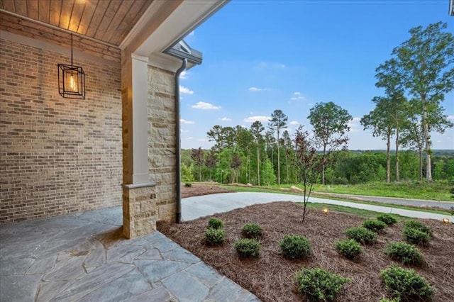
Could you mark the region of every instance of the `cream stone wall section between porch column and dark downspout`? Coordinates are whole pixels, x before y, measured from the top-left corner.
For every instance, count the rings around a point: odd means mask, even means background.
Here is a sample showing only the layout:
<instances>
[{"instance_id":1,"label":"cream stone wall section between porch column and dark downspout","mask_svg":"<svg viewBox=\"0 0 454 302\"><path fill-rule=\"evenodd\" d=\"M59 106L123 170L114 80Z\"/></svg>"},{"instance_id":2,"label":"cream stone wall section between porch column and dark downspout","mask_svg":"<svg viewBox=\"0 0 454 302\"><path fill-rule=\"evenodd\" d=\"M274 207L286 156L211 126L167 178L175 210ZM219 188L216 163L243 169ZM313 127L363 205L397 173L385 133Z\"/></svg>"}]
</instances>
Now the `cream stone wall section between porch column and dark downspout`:
<instances>
[{"instance_id":1,"label":"cream stone wall section between porch column and dark downspout","mask_svg":"<svg viewBox=\"0 0 454 302\"><path fill-rule=\"evenodd\" d=\"M177 210L175 74L148 67L148 167L156 181L158 220L175 221Z\"/></svg>"}]
</instances>

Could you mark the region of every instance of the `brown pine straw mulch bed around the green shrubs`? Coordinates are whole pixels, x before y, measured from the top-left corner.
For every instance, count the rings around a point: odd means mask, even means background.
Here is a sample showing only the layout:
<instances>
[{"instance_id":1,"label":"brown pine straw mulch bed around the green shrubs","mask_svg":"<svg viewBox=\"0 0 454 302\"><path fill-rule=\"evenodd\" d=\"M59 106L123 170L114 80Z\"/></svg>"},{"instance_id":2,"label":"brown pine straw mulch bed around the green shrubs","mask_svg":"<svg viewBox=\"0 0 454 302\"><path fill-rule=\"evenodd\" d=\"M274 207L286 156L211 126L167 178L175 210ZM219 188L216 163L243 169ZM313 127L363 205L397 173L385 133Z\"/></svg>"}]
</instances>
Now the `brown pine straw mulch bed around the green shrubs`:
<instances>
[{"instance_id":1,"label":"brown pine straw mulch bed around the green shrubs","mask_svg":"<svg viewBox=\"0 0 454 302\"><path fill-rule=\"evenodd\" d=\"M274 202L239 208L227 213L187 221L182 224L158 223L158 230L182 247L200 257L219 273L228 276L254 293L262 301L304 301L292 285L294 272L301 267L323 267L352 279L344 286L338 301L380 301L387 297L379 272L393 263L383 253L387 242L402 241L403 222L386 229L379 242L364 248L360 259L350 261L340 257L334 242L345 239L344 230L362 225L365 218L348 213L329 213L309 209L304 225L302 207L292 202ZM226 243L221 247L204 245L204 229L209 218L225 222ZM421 220L433 229L428 247L421 248L426 261L414 267L433 284L433 301L453 301L454 298L454 225L437 220ZM241 236L244 223L258 223L264 230L259 259L239 259L233 242ZM278 241L286 234L304 235L314 249L314 256L304 261L290 261L279 254Z\"/></svg>"}]
</instances>

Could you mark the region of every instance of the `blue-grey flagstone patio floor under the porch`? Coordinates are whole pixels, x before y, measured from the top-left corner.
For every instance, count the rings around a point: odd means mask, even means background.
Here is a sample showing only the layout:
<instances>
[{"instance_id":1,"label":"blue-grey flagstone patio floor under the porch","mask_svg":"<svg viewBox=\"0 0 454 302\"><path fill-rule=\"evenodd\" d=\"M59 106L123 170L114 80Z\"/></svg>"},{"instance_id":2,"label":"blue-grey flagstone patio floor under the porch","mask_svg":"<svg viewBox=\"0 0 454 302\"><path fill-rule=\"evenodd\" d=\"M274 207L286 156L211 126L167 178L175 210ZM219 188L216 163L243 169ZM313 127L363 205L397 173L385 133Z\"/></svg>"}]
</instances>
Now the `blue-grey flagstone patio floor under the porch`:
<instances>
[{"instance_id":1,"label":"blue-grey flagstone patio floor under the porch","mask_svg":"<svg viewBox=\"0 0 454 302\"><path fill-rule=\"evenodd\" d=\"M0 301L259 301L121 207L0 226Z\"/></svg>"}]
</instances>

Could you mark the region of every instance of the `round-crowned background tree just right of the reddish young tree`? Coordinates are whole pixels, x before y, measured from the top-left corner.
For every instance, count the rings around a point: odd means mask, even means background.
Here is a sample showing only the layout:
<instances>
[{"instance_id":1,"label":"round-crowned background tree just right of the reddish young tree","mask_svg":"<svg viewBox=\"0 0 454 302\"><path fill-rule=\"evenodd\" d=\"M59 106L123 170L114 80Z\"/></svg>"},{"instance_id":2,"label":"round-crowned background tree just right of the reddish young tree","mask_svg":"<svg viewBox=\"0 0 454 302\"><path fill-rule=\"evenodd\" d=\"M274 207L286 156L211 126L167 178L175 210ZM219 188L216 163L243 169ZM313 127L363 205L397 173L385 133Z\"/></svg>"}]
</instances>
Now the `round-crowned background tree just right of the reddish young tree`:
<instances>
[{"instance_id":1,"label":"round-crowned background tree just right of the reddish young tree","mask_svg":"<svg viewBox=\"0 0 454 302\"><path fill-rule=\"evenodd\" d=\"M317 103L307 117L314 127L314 138L318 147L323 147L321 159L321 182L325 184L325 166L328 155L338 147L347 147L348 138L344 136L350 130L348 122L352 116L348 111L334 104Z\"/></svg>"}]
</instances>

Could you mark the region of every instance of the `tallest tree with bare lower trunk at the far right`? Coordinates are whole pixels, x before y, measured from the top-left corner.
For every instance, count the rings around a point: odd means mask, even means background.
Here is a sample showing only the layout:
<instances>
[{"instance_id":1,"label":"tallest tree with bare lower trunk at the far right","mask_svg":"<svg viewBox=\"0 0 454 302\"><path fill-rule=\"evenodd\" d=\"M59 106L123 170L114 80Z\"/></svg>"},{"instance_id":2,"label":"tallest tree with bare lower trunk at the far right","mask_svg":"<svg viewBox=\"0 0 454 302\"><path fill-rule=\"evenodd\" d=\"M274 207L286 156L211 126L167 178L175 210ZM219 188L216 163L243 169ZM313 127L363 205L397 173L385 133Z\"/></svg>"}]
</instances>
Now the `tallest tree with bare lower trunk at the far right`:
<instances>
[{"instance_id":1,"label":"tallest tree with bare lower trunk at the far right","mask_svg":"<svg viewBox=\"0 0 454 302\"><path fill-rule=\"evenodd\" d=\"M430 128L436 121L431 112L441 108L445 94L454 89L454 36L446 23L411 28L411 37L394 48L402 83L419 102L419 115L426 150L426 179L432 181Z\"/></svg>"}]
</instances>

